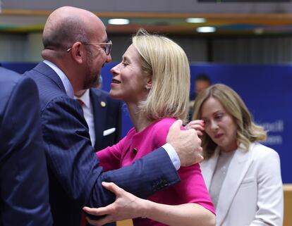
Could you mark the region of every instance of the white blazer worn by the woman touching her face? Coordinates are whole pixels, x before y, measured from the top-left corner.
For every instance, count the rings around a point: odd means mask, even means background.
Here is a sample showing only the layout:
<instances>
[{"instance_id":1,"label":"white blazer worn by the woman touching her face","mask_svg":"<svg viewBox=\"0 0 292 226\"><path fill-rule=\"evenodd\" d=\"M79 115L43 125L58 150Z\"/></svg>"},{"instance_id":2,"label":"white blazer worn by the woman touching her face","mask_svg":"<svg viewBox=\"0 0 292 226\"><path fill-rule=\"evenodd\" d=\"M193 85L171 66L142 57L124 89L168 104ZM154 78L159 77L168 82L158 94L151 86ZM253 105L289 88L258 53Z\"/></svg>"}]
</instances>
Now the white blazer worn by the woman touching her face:
<instances>
[{"instance_id":1,"label":"white blazer worn by the woman touching her face","mask_svg":"<svg viewBox=\"0 0 292 226\"><path fill-rule=\"evenodd\" d=\"M200 163L206 186L219 157ZM259 143L236 150L226 172L216 208L217 226L283 225L283 186L278 153Z\"/></svg>"}]
</instances>

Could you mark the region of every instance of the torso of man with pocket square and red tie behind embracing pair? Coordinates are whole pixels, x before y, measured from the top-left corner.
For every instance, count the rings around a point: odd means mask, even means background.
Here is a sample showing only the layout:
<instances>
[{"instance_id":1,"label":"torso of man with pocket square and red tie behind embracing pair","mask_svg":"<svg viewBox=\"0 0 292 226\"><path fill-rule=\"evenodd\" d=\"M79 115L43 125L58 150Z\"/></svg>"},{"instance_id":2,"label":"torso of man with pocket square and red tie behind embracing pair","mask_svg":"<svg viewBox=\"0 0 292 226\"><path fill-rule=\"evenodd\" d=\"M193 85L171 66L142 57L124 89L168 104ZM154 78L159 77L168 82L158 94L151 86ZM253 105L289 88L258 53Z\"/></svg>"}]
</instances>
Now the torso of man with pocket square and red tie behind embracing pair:
<instances>
[{"instance_id":1,"label":"torso of man with pocket square and red tie behind embracing pair","mask_svg":"<svg viewBox=\"0 0 292 226\"><path fill-rule=\"evenodd\" d=\"M109 93L95 88L77 92L75 99L78 99L83 108L95 151L112 146L121 139L121 101L112 99Z\"/></svg>"}]
</instances>

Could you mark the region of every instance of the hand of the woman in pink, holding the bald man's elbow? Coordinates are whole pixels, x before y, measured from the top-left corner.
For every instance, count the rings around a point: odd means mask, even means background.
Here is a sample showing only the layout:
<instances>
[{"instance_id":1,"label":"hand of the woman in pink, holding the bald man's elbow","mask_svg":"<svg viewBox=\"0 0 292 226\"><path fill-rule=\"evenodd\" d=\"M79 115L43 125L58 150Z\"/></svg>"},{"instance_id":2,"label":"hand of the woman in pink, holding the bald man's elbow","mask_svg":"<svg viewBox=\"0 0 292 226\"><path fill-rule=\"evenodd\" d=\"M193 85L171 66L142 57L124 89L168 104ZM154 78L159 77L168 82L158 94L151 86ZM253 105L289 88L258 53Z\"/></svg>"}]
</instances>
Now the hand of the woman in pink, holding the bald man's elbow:
<instances>
[{"instance_id":1,"label":"hand of the woman in pink, holding the bald man's elbow","mask_svg":"<svg viewBox=\"0 0 292 226\"><path fill-rule=\"evenodd\" d=\"M84 207L83 211L90 213L91 215L106 215L100 220L90 220L90 218L87 218L90 225L99 226L107 224L108 222L115 222L117 220L126 220L146 216L148 206L147 203L149 201L140 199L133 194L126 192L114 183L102 182L102 186L116 194L116 201L109 204L109 206L101 208Z\"/></svg>"}]
</instances>

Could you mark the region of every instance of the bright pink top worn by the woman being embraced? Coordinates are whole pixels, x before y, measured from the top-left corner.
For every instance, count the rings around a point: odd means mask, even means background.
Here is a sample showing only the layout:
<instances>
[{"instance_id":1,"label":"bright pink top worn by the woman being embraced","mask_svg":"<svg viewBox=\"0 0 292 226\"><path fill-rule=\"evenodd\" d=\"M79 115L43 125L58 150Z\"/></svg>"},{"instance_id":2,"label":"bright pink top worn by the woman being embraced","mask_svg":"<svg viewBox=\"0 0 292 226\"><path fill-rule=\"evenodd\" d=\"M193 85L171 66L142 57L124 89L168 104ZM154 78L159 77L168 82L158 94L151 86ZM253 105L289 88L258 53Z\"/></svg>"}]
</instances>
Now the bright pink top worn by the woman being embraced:
<instances>
[{"instance_id":1,"label":"bright pink top worn by the woman being embraced","mask_svg":"<svg viewBox=\"0 0 292 226\"><path fill-rule=\"evenodd\" d=\"M100 165L102 165L104 171L114 170L130 165L138 158L142 158L147 153L158 149L166 143L169 127L175 120L174 118L157 120L141 132L135 132L133 127L118 144L97 152ZM137 150L136 153L133 149ZM181 167L178 174L181 177L180 183L157 192L150 196L149 200L168 205L197 203L214 213L214 205L207 192L200 165ZM135 218L133 223L139 226L164 225L147 218Z\"/></svg>"}]
</instances>

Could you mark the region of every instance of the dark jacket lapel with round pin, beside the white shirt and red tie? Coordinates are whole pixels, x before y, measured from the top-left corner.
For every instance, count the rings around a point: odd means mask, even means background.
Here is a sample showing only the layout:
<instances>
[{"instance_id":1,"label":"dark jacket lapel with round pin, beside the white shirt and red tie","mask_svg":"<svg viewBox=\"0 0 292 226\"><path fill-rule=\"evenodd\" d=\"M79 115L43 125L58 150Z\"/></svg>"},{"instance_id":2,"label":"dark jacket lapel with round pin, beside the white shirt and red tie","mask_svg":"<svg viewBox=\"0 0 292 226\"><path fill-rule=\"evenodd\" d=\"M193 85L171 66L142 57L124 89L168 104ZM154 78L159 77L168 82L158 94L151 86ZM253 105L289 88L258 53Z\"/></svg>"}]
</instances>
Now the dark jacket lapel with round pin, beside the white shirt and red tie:
<instances>
[{"instance_id":1,"label":"dark jacket lapel with round pin, beside the white shirt and red tie","mask_svg":"<svg viewBox=\"0 0 292 226\"><path fill-rule=\"evenodd\" d=\"M107 100L103 98L102 92L98 89L94 91L90 89L90 100L92 101L93 108L93 118L95 120L95 149L98 149L99 144L102 142L102 137L104 137L104 125L105 118L107 114ZM102 106L102 101L106 103L105 106Z\"/></svg>"}]
</instances>

